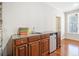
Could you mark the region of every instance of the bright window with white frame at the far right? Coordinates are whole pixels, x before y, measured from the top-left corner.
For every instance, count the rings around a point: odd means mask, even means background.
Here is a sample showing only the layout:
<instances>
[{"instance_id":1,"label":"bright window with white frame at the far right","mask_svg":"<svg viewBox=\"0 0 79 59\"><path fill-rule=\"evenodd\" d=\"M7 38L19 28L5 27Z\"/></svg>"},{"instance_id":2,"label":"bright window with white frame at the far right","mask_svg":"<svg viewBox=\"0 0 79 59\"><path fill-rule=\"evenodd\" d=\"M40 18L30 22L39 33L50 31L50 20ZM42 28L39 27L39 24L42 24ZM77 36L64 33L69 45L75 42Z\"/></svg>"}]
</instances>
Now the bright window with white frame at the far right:
<instances>
[{"instance_id":1,"label":"bright window with white frame at the far right","mask_svg":"<svg viewBox=\"0 0 79 59\"><path fill-rule=\"evenodd\" d=\"M68 32L69 33L78 33L78 14L73 14L68 16Z\"/></svg>"}]
</instances>

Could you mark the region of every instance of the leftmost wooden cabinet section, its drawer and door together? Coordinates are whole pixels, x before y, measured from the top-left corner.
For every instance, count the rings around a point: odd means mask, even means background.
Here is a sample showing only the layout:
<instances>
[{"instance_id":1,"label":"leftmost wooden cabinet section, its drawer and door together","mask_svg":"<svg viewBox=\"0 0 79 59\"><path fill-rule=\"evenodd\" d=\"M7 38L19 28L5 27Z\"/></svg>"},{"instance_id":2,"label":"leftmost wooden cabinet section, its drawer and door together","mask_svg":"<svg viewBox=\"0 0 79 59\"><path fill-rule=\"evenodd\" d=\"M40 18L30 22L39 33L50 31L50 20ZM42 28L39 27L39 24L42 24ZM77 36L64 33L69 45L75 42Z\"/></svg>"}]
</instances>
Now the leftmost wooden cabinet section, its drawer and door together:
<instances>
[{"instance_id":1,"label":"leftmost wooden cabinet section, its drawer and door together","mask_svg":"<svg viewBox=\"0 0 79 59\"><path fill-rule=\"evenodd\" d=\"M12 40L12 55L28 56L28 39L19 38Z\"/></svg>"}]
</instances>

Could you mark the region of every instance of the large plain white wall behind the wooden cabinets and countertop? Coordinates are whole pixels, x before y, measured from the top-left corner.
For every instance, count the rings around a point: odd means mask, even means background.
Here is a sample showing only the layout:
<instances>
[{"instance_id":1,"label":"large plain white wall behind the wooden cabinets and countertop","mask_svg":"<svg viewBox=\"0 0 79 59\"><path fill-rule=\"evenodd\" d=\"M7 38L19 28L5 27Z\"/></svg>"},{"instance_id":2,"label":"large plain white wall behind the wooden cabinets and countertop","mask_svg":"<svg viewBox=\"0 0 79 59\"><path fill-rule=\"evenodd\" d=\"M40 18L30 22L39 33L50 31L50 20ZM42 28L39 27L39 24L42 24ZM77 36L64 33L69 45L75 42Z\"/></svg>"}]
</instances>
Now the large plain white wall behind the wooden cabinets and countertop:
<instances>
[{"instance_id":1,"label":"large plain white wall behind the wooden cabinets and countertop","mask_svg":"<svg viewBox=\"0 0 79 59\"><path fill-rule=\"evenodd\" d=\"M2 13L3 48L19 27L34 26L36 31L56 31L56 16L63 16L62 12L44 3L4 2Z\"/></svg>"}]
</instances>

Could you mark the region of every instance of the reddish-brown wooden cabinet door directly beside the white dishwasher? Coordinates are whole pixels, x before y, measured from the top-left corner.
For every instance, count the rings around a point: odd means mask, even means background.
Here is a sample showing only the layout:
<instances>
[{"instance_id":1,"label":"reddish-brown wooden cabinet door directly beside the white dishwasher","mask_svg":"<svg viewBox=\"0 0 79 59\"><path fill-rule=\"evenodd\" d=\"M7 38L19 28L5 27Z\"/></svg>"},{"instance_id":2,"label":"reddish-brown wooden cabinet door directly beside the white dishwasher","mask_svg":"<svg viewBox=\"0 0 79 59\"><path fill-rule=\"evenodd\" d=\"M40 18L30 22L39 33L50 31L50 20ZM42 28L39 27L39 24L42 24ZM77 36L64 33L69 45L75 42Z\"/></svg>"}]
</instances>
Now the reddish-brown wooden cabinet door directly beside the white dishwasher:
<instances>
[{"instance_id":1,"label":"reddish-brown wooden cabinet door directly beside the white dishwasher","mask_svg":"<svg viewBox=\"0 0 79 59\"><path fill-rule=\"evenodd\" d=\"M41 40L41 53L43 56L48 55L49 53L49 38Z\"/></svg>"}]
</instances>

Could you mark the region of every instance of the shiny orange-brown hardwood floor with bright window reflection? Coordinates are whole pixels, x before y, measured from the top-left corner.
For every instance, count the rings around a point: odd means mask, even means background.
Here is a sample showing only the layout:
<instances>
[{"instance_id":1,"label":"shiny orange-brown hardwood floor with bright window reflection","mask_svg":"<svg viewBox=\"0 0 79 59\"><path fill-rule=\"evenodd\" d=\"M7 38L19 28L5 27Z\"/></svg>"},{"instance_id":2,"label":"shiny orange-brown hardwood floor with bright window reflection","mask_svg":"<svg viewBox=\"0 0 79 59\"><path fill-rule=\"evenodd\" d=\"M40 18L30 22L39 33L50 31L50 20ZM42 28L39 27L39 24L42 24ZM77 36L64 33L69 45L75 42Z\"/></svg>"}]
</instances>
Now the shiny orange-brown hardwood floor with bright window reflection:
<instances>
[{"instance_id":1,"label":"shiny orange-brown hardwood floor with bright window reflection","mask_svg":"<svg viewBox=\"0 0 79 59\"><path fill-rule=\"evenodd\" d=\"M79 41L64 39L61 48L51 53L50 56L79 56Z\"/></svg>"}]
</instances>

